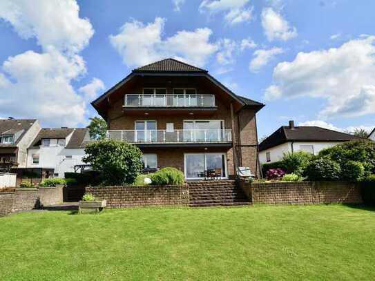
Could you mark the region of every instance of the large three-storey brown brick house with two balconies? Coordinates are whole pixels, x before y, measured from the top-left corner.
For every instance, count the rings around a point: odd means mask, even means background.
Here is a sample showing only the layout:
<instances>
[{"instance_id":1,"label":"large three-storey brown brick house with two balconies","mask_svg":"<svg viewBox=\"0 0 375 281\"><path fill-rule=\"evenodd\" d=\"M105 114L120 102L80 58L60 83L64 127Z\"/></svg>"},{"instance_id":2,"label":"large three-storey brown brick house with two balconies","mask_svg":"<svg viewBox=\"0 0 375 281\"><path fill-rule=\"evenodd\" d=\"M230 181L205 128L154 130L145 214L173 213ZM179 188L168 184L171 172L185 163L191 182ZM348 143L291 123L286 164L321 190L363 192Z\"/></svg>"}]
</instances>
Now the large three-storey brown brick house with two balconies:
<instances>
[{"instance_id":1,"label":"large three-storey brown brick house with two balconies","mask_svg":"<svg viewBox=\"0 0 375 281\"><path fill-rule=\"evenodd\" d=\"M164 59L131 72L92 102L108 137L136 144L144 165L173 166L197 180L216 169L258 173L256 113L264 104L231 92L207 70Z\"/></svg>"}]
</instances>

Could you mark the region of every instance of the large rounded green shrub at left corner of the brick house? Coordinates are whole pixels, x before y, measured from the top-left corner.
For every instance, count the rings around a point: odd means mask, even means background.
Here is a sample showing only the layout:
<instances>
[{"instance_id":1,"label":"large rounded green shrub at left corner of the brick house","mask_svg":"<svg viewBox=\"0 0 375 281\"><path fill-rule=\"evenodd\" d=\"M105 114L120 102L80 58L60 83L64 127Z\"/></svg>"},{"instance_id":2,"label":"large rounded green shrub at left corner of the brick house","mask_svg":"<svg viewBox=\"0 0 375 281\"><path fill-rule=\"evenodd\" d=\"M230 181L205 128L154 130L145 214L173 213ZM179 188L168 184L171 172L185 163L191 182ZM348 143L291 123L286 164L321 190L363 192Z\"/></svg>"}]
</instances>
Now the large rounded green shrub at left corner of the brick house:
<instances>
[{"instance_id":1,"label":"large rounded green shrub at left corner of the brick house","mask_svg":"<svg viewBox=\"0 0 375 281\"><path fill-rule=\"evenodd\" d=\"M126 142L102 139L88 144L83 161L99 172L104 184L133 184L142 171L140 148Z\"/></svg>"}]
</instances>

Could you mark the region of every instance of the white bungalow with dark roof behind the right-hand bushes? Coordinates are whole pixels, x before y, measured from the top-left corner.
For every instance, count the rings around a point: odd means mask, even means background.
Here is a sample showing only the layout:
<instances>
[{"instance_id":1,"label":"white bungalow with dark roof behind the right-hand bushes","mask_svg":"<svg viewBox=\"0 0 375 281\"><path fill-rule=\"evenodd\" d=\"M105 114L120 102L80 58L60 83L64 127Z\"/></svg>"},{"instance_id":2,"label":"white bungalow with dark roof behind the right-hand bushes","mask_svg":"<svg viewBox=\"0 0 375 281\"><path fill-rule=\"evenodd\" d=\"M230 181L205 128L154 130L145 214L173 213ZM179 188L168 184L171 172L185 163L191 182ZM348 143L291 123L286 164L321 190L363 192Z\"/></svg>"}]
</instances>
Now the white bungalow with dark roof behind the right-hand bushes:
<instances>
[{"instance_id":1,"label":"white bungalow with dark roof behind the right-hand bushes","mask_svg":"<svg viewBox=\"0 0 375 281\"><path fill-rule=\"evenodd\" d=\"M325 148L354 139L362 138L316 126L294 126L294 121L289 121L289 126L281 126L259 144L259 159L261 164L276 162L284 153L295 151L316 155Z\"/></svg>"}]
</instances>

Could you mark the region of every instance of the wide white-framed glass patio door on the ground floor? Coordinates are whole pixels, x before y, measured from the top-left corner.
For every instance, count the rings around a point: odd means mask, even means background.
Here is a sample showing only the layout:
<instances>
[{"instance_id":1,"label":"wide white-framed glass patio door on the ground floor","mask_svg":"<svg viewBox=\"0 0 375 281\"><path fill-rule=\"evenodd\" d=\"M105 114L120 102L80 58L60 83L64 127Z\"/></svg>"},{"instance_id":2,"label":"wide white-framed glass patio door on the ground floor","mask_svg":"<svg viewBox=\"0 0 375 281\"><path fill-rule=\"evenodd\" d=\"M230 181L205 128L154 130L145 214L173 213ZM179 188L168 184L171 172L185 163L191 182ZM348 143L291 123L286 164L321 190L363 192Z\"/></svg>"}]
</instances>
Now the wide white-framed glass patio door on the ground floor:
<instances>
[{"instance_id":1,"label":"wide white-framed glass patio door on the ground floor","mask_svg":"<svg viewBox=\"0 0 375 281\"><path fill-rule=\"evenodd\" d=\"M204 178L205 171L220 168L222 179L227 179L227 155L225 153L185 153L184 172L187 180Z\"/></svg>"}]
</instances>

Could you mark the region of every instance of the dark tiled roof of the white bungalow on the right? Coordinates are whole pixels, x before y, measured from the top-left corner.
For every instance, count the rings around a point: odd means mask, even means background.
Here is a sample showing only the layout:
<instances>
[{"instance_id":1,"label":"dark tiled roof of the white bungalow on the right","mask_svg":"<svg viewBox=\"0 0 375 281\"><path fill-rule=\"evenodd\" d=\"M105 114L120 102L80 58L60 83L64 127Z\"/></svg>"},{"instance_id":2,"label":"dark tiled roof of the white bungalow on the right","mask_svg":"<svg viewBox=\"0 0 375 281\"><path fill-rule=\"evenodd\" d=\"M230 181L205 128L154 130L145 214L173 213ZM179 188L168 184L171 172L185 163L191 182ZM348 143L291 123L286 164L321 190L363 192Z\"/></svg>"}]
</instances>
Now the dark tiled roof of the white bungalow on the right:
<instances>
[{"instance_id":1,"label":"dark tiled roof of the white bungalow on the right","mask_svg":"<svg viewBox=\"0 0 375 281\"><path fill-rule=\"evenodd\" d=\"M259 150L264 151L285 142L347 142L354 139L363 138L316 126L281 126L259 144Z\"/></svg>"}]
</instances>

